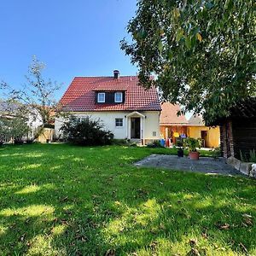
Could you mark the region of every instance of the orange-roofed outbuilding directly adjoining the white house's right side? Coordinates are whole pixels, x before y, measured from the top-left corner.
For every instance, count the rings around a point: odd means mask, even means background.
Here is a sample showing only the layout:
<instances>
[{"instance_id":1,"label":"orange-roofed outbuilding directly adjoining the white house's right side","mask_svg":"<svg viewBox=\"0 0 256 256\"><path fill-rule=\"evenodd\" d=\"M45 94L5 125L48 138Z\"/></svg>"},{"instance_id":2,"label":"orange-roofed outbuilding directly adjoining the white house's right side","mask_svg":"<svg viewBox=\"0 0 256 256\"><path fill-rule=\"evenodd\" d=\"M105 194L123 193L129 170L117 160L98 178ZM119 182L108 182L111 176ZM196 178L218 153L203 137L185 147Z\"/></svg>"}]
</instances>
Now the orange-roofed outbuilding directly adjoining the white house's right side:
<instances>
[{"instance_id":1,"label":"orange-roofed outbuilding directly adjoining the white house's right side","mask_svg":"<svg viewBox=\"0 0 256 256\"><path fill-rule=\"evenodd\" d=\"M160 133L161 137L171 139L172 144L176 144L180 137L187 135L188 120L183 114L177 115L180 107L177 104L164 102L161 104L160 113Z\"/></svg>"}]
</instances>

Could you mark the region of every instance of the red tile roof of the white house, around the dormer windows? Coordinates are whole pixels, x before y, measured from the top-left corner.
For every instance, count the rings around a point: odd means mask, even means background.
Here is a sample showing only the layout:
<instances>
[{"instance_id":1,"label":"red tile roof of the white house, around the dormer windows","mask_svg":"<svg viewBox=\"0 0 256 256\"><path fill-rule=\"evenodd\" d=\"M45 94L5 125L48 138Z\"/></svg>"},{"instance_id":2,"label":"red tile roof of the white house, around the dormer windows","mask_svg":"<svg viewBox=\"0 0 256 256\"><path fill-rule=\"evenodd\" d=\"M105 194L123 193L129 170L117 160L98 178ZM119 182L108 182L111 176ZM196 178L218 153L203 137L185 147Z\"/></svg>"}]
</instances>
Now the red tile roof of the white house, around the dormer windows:
<instances>
[{"instance_id":1,"label":"red tile roof of the white house, around the dormer windows","mask_svg":"<svg viewBox=\"0 0 256 256\"><path fill-rule=\"evenodd\" d=\"M124 103L96 104L96 90L125 90ZM67 111L143 111L160 110L156 88L145 90L138 85L135 76L119 77L76 77L61 98Z\"/></svg>"}]
</instances>

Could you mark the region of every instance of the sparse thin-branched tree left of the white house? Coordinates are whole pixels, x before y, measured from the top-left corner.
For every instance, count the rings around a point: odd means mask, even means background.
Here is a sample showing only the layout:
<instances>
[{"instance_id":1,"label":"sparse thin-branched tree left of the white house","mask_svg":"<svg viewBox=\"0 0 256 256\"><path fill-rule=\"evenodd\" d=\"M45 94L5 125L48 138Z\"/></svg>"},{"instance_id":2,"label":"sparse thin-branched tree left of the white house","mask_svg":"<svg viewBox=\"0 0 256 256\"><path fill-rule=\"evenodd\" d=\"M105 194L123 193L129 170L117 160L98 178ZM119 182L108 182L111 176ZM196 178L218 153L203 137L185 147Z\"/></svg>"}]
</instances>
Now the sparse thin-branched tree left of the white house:
<instances>
[{"instance_id":1,"label":"sparse thin-branched tree left of the white house","mask_svg":"<svg viewBox=\"0 0 256 256\"><path fill-rule=\"evenodd\" d=\"M45 64L38 61L36 56L32 57L26 75L26 84L20 90L12 89L8 84L2 82L0 89L9 90L9 101L20 102L20 106L26 107L27 113L39 117L44 127L51 123L53 114L57 110L55 92L61 88L61 84L44 79L43 70Z\"/></svg>"}]
</instances>

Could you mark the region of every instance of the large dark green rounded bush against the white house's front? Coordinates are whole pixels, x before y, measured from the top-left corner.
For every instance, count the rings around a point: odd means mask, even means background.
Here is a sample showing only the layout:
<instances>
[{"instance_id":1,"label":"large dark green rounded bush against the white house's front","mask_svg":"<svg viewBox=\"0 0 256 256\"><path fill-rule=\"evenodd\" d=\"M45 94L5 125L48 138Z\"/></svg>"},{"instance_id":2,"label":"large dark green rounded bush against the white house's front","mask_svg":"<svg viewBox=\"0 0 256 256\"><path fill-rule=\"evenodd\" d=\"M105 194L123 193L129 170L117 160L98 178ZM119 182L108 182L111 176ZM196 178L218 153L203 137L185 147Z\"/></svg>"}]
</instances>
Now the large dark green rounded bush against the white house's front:
<instances>
[{"instance_id":1,"label":"large dark green rounded bush against the white house's front","mask_svg":"<svg viewBox=\"0 0 256 256\"><path fill-rule=\"evenodd\" d=\"M82 120L71 117L60 131L65 141L79 145L108 145L113 139L113 133L104 130L100 119L93 120L89 116Z\"/></svg>"}]
</instances>

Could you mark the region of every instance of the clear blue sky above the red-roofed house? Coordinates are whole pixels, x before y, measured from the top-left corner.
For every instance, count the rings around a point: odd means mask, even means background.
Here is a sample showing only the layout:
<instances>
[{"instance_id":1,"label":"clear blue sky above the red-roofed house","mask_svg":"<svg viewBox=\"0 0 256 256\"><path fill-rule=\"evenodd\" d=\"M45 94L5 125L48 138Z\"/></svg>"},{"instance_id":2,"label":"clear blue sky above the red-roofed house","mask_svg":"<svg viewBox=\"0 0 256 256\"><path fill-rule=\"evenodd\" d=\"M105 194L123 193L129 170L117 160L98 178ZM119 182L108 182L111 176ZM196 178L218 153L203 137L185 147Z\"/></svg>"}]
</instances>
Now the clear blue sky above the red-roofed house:
<instances>
[{"instance_id":1,"label":"clear blue sky above the red-roofed house","mask_svg":"<svg viewBox=\"0 0 256 256\"><path fill-rule=\"evenodd\" d=\"M44 77L64 83L75 76L135 75L119 48L136 0L3 0L0 3L0 80L19 88L37 55Z\"/></svg>"}]
</instances>

